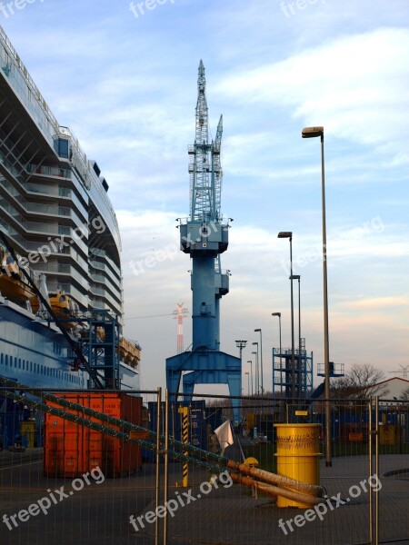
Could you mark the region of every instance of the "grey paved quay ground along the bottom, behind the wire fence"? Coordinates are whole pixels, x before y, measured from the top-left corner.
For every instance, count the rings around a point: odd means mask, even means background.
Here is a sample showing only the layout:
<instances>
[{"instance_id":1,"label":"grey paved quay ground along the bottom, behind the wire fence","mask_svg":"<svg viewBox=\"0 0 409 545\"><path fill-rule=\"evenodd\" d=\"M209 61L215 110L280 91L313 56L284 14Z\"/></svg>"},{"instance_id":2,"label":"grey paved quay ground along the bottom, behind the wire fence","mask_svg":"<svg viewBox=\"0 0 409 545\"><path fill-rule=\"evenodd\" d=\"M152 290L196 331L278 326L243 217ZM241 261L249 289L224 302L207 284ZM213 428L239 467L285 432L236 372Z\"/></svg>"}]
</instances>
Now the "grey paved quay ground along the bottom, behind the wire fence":
<instances>
[{"instance_id":1,"label":"grey paved quay ground along the bottom, behind the wire fence","mask_svg":"<svg viewBox=\"0 0 409 545\"><path fill-rule=\"evenodd\" d=\"M236 452L226 455L237 458ZM122 545L155 543L155 465L126 478L99 484L70 479L45 478L42 453L0 452L0 543L2 545ZM163 468L161 467L163 471ZM394 471L404 471L394 473ZM269 498L254 498L252 490L230 486L227 476L218 488L209 484L209 474L191 469L189 488L180 481L180 464L171 464L169 500L175 512L168 518L167 542L174 545L358 545L369 543L368 459L365 456L334 458L333 467L321 461L321 484L329 497L320 520L314 511L305 520L303 509L276 507ZM391 472L386 476L388 472ZM381 456L380 479L371 484L379 490L379 536L382 543L409 542L409 456ZM98 477L95 474L95 477ZM99 475L99 481L101 476ZM163 484L163 481L162 481ZM62 489L61 487L65 487ZM79 490L81 488L81 490ZM78 490L74 490L78 489ZM365 491L365 489L367 491ZM60 490L57 492L55 490ZM63 496L64 492L64 496ZM70 494L70 492L73 492ZM55 501L52 500L54 495ZM200 497L199 497L200 496ZM354 497L353 497L354 496ZM27 509L43 500L47 514ZM374 491L373 491L374 498ZM348 501L349 499L349 501ZM342 503L342 504L341 504ZM24 510L22 521L13 515ZM4 516L8 520L5 523ZM134 515L135 528L129 523ZM139 517L139 520L138 520ZM147 520L145 519L147 517ZM279 526L281 520L281 527ZM162 526L163 520L159 520ZM144 526L144 527L143 527ZM162 530L162 528L161 528ZM163 543L162 536L159 543Z\"/></svg>"}]
</instances>

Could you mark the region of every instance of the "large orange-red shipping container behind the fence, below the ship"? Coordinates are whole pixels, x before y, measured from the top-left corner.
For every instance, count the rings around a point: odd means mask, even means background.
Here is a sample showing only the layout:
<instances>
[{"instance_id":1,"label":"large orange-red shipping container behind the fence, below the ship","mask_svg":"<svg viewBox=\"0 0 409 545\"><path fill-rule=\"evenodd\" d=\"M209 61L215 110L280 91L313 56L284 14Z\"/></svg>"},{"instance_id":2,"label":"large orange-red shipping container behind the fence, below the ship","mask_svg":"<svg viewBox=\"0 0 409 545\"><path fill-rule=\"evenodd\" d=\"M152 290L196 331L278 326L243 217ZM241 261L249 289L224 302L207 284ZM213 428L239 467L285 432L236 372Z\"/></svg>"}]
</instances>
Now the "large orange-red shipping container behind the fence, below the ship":
<instances>
[{"instance_id":1,"label":"large orange-red shipping container behind the fence, below the ship","mask_svg":"<svg viewBox=\"0 0 409 545\"><path fill-rule=\"evenodd\" d=\"M122 392L64 392L55 395L117 419L142 425L141 397ZM54 403L47 401L47 404L61 409ZM82 412L69 412L87 418ZM90 420L103 423L95 418ZM99 467L105 477L119 477L139 471L142 467L141 448L45 413L45 475L78 477L95 467Z\"/></svg>"}]
</instances>

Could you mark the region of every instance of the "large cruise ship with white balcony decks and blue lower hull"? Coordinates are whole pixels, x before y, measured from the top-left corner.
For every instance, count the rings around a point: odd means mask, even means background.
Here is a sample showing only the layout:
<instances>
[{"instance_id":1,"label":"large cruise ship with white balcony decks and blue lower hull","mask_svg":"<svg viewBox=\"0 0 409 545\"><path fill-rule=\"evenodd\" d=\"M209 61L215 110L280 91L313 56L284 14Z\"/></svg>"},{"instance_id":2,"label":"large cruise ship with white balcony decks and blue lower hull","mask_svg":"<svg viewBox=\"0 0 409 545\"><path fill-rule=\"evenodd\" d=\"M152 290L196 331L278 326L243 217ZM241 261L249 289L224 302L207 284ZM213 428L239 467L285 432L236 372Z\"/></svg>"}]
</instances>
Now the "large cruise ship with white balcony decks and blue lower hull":
<instances>
[{"instance_id":1,"label":"large cruise ship with white balcony decks and blue lower hull","mask_svg":"<svg viewBox=\"0 0 409 545\"><path fill-rule=\"evenodd\" d=\"M122 337L121 241L107 192L99 165L57 122L0 27L0 374L95 387L57 315L105 388L139 388L140 347Z\"/></svg>"}]
</instances>

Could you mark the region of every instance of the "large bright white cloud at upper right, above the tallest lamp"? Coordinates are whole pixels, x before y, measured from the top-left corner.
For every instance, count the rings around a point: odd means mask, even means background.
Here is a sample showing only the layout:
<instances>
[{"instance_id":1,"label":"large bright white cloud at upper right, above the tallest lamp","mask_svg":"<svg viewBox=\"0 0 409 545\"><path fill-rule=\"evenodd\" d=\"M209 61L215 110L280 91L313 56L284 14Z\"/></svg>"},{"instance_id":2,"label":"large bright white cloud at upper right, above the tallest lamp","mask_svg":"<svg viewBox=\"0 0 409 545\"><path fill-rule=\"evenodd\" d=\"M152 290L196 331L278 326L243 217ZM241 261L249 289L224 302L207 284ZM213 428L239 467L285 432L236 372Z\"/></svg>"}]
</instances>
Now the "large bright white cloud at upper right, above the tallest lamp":
<instances>
[{"instance_id":1,"label":"large bright white cloud at upper right, above the tallest lamp","mask_svg":"<svg viewBox=\"0 0 409 545\"><path fill-rule=\"evenodd\" d=\"M293 109L304 124L363 144L402 144L408 107L409 30L380 28L307 48L284 61L234 71L218 91L240 104ZM237 93L240 89L240 93ZM395 152L401 150L396 149ZM402 150L404 153L404 150Z\"/></svg>"}]
</instances>

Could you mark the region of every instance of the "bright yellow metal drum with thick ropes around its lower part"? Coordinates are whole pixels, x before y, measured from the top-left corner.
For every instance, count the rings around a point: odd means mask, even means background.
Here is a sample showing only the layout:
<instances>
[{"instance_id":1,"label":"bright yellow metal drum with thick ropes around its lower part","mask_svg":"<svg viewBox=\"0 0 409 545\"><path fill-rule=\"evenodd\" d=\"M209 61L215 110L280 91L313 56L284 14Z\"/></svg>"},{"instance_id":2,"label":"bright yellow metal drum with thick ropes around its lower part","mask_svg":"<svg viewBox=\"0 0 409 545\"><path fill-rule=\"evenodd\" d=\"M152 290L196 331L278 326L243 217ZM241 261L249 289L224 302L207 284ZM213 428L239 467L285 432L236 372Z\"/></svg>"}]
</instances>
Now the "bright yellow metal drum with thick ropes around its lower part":
<instances>
[{"instance_id":1,"label":"bright yellow metal drum with thick ropes around its lower part","mask_svg":"<svg viewBox=\"0 0 409 545\"><path fill-rule=\"evenodd\" d=\"M319 484L321 424L274 424L277 430L277 473L296 481ZM291 490L291 489L289 489ZM308 508L302 501L277 498L277 507Z\"/></svg>"}]
</instances>

